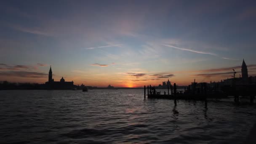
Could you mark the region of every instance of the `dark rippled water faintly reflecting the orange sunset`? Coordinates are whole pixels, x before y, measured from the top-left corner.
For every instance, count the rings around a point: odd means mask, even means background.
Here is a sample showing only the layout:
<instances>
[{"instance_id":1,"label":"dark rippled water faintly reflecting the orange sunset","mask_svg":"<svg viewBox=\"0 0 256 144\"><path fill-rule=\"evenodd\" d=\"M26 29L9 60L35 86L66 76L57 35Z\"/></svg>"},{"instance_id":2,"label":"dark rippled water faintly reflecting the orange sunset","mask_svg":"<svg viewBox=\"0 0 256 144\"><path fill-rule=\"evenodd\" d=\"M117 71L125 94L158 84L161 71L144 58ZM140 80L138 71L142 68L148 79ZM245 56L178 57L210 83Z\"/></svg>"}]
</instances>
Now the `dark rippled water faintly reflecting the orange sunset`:
<instances>
[{"instance_id":1,"label":"dark rippled water faintly reflecting the orange sunset","mask_svg":"<svg viewBox=\"0 0 256 144\"><path fill-rule=\"evenodd\" d=\"M144 90L0 91L0 143L242 143L256 106Z\"/></svg>"}]
</instances>

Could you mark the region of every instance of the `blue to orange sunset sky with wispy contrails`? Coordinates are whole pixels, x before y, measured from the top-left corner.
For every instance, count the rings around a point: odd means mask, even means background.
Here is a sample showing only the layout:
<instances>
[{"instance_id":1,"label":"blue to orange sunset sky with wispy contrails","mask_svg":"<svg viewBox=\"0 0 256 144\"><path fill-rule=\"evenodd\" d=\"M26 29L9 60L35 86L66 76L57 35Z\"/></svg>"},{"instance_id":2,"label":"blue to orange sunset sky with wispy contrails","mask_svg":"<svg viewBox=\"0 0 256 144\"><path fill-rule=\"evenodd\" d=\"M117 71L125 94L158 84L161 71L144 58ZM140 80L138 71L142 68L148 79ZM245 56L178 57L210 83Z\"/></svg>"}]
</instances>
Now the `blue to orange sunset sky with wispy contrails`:
<instances>
[{"instance_id":1,"label":"blue to orange sunset sky with wispy contrails","mask_svg":"<svg viewBox=\"0 0 256 144\"><path fill-rule=\"evenodd\" d=\"M0 81L107 87L256 76L254 0L2 0Z\"/></svg>"}]
</instances>

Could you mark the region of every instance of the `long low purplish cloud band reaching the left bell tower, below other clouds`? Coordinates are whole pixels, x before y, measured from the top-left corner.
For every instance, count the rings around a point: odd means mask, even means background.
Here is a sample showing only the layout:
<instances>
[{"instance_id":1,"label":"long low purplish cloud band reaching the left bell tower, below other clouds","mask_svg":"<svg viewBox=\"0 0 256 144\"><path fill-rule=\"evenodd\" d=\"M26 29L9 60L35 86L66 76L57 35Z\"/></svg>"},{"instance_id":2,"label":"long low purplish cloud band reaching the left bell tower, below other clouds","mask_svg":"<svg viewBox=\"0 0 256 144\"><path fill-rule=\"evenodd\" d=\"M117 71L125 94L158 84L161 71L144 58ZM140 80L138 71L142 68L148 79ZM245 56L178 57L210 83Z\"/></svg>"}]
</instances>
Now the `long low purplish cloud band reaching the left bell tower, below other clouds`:
<instances>
[{"instance_id":1,"label":"long low purplish cloud band reaching the left bell tower, below other clouds","mask_svg":"<svg viewBox=\"0 0 256 144\"><path fill-rule=\"evenodd\" d=\"M28 72L28 71L8 71L0 72L0 76L4 77L32 77L32 78L41 78L47 77L47 73L43 72Z\"/></svg>"}]
</instances>

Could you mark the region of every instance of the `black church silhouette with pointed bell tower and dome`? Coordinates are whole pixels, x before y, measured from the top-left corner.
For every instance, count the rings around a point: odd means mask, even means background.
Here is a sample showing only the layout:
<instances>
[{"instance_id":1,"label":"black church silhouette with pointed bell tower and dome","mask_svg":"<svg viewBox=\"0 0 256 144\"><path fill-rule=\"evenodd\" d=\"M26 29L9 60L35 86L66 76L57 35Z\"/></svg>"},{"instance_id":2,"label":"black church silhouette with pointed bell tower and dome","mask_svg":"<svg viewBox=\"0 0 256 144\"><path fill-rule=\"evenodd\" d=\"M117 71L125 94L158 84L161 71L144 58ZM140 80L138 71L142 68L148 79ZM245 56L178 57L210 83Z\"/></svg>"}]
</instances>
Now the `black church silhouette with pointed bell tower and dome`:
<instances>
[{"instance_id":1,"label":"black church silhouette with pointed bell tower and dome","mask_svg":"<svg viewBox=\"0 0 256 144\"><path fill-rule=\"evenodd\" d=\"M48 82L45 82L46 88L47 89L60 89L60 90L69 90L73 89L75 87L74 82L66 82L65 79L62 77L60 81L54 81L53 79L53 72L49 70L49 75L48 75Z\"/></svg>"}]
</instances>

